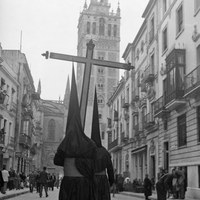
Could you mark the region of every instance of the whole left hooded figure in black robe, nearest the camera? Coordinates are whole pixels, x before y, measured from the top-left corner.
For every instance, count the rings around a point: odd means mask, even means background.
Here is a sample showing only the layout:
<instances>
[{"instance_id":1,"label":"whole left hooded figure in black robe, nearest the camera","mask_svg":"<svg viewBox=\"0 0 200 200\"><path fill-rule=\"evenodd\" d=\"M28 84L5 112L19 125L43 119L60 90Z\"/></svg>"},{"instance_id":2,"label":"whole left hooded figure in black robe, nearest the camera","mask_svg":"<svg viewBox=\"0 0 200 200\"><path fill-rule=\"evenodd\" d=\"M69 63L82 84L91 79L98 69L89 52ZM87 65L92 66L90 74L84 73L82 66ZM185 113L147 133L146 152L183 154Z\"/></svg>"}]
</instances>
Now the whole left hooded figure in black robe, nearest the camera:
<instances>
[{"instance_id":1,"label":"whole left hooded figure in black robe, nearest the camera","mask_svg":"<svg viewBox=\"0 0 200 200\"><path fill-rule=\"evenodd\" d=\"M73 68L66 134L54 157L64 167L59 200L96 200L95 156L96 145L83 132Z\"/></svg>"}]
</instances>

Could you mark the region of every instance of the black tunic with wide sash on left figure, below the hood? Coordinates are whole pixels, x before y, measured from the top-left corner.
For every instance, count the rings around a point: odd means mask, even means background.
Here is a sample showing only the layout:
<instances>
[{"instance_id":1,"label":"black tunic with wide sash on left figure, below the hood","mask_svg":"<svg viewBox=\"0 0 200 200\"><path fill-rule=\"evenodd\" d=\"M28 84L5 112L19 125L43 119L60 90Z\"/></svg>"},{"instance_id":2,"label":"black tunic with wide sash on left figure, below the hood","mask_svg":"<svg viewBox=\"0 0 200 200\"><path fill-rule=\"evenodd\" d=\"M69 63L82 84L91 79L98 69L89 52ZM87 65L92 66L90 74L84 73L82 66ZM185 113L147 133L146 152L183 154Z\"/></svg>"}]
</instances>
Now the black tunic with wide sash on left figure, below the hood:
<instances>
[{"instance_id":1,"label":"black tunic with wide sash on left figure, below the hood","mask_svg":"<svg viewBox=\"0 0 200 200\"><path fill-rule=\"evenodd\" d=\"M59 200L96 200L94 160L66 158L58 151L54 157L56 165L63 163L64 177L60 185Z\"/></svg>"}]
</instances>

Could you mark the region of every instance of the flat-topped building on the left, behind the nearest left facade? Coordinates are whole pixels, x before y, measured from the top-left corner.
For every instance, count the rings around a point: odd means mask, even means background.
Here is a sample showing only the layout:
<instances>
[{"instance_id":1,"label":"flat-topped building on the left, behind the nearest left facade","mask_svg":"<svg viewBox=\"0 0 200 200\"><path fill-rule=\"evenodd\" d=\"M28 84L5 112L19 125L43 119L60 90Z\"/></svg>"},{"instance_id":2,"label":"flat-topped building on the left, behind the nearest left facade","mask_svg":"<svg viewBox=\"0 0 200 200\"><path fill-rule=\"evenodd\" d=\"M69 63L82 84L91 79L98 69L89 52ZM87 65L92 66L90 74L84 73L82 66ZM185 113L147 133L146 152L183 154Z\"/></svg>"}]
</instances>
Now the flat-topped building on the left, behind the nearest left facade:
<instances>
[{"instance_id":1,"label":"flat-topped building on the left, behind the nearest left facade","mask_svg":"<svg viewBox=\"0 0 200 200\"><path fill-rule=\"evenodd\" d=\"M7 91L9 91L9 88L12 91L11 95L8 96L8 105L9 102L15 100L10 104L12 110L15 110L13 164L7 167L13 167L17 172L29 173L35 134L33 110L37 107L35 102L39 100L39 96L35 92L33 78L25 54L18 50L2 50L2 57L12 68L14 80L17 83L16 88L12 88L12 90L10 85L4 84ZM16 94L14 91L16 91Z\"/></svg>"}]
</instances>

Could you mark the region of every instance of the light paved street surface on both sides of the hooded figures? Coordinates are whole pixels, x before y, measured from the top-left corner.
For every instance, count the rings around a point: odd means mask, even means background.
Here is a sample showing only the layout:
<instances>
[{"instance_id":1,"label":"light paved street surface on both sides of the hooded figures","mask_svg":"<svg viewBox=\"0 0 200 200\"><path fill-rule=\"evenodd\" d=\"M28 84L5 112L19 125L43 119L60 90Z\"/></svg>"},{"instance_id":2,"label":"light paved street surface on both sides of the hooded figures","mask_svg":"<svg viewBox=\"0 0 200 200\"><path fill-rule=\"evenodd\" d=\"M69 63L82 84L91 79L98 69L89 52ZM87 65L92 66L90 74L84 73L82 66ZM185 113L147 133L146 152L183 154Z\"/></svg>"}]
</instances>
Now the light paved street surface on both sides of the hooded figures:
<instances>
[{"instance_id":1,"label":"light paved street surface on both sides of the hooded figures","mask_svg":"<svg viewBox=\"0 0 200 200\"><path fill-rule=\"evenodd\" d=\"M39 194L34 191L33 193L27 193L27 194L12 198L12 200L42 200L42 199L57 200L58 192L59 192L59 189L55 188L54 191L48 192L49 196L46 198L43 191L43 197L40 198ZM141 200L141 198L135 198L135 197L129 197L125 195L116 194L114 198L112 197L112 200Z\"/></svg>"}]
</instances>

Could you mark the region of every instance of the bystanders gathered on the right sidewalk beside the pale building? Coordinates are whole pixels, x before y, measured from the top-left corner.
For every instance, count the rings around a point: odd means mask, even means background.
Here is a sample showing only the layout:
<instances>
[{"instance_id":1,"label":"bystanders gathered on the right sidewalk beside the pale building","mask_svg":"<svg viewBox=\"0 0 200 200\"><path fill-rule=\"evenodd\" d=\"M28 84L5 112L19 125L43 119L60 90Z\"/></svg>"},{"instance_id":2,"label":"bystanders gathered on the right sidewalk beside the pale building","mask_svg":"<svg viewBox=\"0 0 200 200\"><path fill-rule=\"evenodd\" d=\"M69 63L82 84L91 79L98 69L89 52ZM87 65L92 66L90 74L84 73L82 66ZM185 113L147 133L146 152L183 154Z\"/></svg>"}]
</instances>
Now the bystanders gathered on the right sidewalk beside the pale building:
<instances>
[{"instance_id":1,"label":"bystanders gathered on the right sidewalk beside the pale building","mask_svg":"<svg viewBox=\"0 0 200 200\"><path fill-rule=\"evenodd\" d=\"M144 179L144 195L148 200L152 195L152 181L146 175ZM171 173L160 173L156 183L157 200L166 200L168 197L173 199L185 199L186 177L184 168L173 168Z\"/></svg>"}]
</instances>

